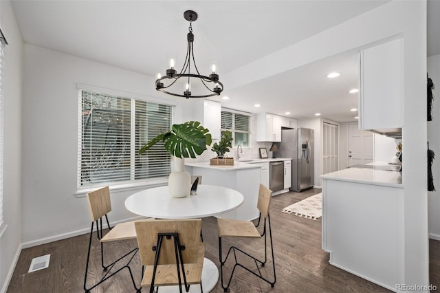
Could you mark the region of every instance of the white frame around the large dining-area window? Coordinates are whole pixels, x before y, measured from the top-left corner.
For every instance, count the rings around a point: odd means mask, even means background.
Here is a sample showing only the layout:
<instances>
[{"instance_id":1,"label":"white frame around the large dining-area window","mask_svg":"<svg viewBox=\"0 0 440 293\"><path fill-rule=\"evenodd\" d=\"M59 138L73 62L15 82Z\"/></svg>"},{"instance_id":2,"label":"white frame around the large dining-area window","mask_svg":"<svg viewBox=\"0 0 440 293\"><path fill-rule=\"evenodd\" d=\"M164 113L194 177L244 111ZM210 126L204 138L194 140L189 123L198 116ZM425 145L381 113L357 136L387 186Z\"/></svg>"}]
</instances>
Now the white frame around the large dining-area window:
<instances>
[{"instance_id":1,"label":"white frame around the large dining-area window","mask_svg":"<svg viewBox=\"0 0 440 293\"><path fill-rule=\"evenodd\" d=\"M167 99L159 99L159 98L153 98L150 96L142 96L139 94L133 94L126 91L118 91L115 89L107 89L104 87L96 87L93 85L86 85L83 83L77 83L76 89L78 93L78 151L77 151L77 182L76 182L76 196L77 197L83 197L85 193L89 191L93 191L94 189L100 187L100 186L110 186L112 190L115 189L130 189L130 188L139 188L141 186L159 186L166 183L167 178L164 177L157 177L156 179L140 179L140 180L126 180L126 181L109 181L109 182L100 182L97 184L87 185L87 186L81 186L81 150L82 150L82 131L83 131L83 124L82 124L82 91L91 91L96 94L104 94L109 96L117 96L120 98L129 98L131 99L131 103L135 104L136 101L142 101L142 102L153 102L160 105L167 105L171 107L171 121L170 124L172 125L175 121L175 106L177 105L177 102L173 100L167 100ZM131 111L133 111L133 107ZM131 118L133 118L133 114L131 113ZM132 119L133 120L133 119ZM131 121L132 127L134 127L134 120ZM131 151L134 149L134 139L135 139L135 133L131 133ZM133 166L131 166L133 168Z\"/></svg>"}]
</instances>

